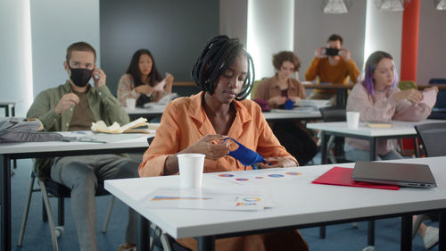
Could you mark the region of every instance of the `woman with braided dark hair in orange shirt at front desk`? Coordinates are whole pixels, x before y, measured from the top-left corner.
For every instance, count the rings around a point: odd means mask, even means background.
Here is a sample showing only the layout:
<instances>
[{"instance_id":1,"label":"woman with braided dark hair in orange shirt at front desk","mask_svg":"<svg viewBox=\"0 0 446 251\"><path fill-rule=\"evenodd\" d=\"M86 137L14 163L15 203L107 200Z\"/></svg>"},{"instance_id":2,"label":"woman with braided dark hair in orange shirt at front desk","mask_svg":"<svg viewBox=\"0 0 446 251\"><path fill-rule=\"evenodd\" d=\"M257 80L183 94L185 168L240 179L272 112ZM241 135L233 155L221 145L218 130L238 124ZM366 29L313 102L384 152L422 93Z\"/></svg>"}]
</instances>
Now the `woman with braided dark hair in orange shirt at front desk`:
<instances>
[{"instance_id":1,"label":"woman with braided dark hair in orange shirt at front desk","mask_svg":"<svg viewBox=\"0 0 446 251\"><path fill-rule=\"evenodd\" d=\"M260 168L297 166L280 146L259 105L245 99L254 79L252 58L238 39L211 38L194 63L192 77L202 92L167 105L161 126L139 165L139 175L178 174L178 154L205 155L203 172L251 170L229 156L234 138L262 155ZM194 238L177 240L196 250ZM308 250L297 230L216 240L216 250Z\"/></svg>"}]
</instances>

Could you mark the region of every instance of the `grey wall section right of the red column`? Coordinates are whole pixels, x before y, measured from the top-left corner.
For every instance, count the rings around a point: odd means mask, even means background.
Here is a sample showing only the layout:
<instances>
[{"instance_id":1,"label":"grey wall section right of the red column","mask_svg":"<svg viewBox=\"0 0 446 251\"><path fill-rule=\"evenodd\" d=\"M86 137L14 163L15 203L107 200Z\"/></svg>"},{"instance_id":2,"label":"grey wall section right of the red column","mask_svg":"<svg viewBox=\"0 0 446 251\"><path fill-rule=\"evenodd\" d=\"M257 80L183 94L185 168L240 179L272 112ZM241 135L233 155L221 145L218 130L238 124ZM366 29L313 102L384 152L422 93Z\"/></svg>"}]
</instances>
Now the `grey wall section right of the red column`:
<instances>
[{"instance_id":1,"label":"grey wall section right of the red column","mask_svg":"<svg viewBox=\"0 0 446 251\"><path fill-rule=\"evenodd\" d=\"M420 1L417 83L446 79L446 11L437 11L432 1Z\"/></svg>"}]
</instances>

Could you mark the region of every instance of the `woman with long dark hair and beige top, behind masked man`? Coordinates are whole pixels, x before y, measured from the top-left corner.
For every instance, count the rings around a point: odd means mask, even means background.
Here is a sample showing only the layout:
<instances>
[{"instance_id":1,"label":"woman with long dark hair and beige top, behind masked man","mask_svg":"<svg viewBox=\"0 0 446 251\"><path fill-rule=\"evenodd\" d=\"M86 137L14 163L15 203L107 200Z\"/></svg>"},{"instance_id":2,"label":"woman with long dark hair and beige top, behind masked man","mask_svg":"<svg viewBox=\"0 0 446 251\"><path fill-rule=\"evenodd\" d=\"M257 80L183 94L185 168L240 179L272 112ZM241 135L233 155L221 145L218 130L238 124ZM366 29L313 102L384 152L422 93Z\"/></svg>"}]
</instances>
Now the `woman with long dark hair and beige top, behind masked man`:
<instances>
[{"instance_id":1,"label":"woman with long dark hair and beige top, behind masked man","mask_svg":"<svg viewBox=\"0 0 446 251\"><path fill-rule=\"evenodd\" d=\"M166 78L161 78L150 51L140 49L133 54L127 73L120 78L118 99L123 106L127 105L127 98L135 98L136 106L157 102L172 92L172 83L173 76L169 73Z\"/></svg>"}]
</instances>

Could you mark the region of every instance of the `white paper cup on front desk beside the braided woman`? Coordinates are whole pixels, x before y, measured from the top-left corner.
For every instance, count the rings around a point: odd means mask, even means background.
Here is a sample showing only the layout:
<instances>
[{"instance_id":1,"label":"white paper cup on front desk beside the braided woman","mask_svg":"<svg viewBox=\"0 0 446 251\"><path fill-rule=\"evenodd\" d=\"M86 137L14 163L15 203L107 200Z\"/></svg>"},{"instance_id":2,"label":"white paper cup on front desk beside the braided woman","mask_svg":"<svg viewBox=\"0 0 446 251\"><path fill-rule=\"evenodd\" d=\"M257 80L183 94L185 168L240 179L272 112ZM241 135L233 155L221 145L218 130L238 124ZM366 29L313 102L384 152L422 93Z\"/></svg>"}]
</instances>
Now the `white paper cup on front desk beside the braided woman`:
<instances>
[{"instance_id":1,"label":"white paper cup on front desk beside the braided woman","mask_svg":"<svg viewBox=\"0 0 446 251\"><path fill-rule=\"evenodd\" d=\"M179 185L181 188L201 188L204 156L201 154L177 155Z\"/></svg>"}]
</instances>

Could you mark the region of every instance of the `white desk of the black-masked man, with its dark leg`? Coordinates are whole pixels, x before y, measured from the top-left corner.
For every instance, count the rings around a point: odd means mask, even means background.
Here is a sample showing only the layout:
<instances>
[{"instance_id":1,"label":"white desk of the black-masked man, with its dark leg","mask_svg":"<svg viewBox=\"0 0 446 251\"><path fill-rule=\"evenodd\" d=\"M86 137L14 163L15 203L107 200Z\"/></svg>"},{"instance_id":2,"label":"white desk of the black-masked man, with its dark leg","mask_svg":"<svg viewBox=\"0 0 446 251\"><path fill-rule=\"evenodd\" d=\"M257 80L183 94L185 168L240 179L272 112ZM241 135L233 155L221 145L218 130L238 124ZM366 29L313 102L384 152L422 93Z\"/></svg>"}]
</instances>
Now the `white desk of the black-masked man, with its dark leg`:
<instances>
[{"instance_id":1,"label":"white desk of the black-masked man, with its dark leg","mask_svg":"<svg viewBox=\"0 0 446 251\"><path fill-rule=\"evenodd\" d=\"M11 250L11 166L12 159L55 157L71 155L103 155L121 154L145 151L148 147L147 138L154 135L144 135L111 143L87 142L27 142L0 144L1 160L1 249Z\"/></svg>"}]
</instances>

